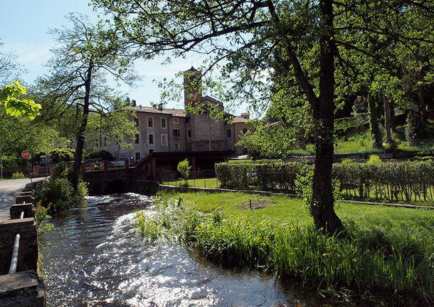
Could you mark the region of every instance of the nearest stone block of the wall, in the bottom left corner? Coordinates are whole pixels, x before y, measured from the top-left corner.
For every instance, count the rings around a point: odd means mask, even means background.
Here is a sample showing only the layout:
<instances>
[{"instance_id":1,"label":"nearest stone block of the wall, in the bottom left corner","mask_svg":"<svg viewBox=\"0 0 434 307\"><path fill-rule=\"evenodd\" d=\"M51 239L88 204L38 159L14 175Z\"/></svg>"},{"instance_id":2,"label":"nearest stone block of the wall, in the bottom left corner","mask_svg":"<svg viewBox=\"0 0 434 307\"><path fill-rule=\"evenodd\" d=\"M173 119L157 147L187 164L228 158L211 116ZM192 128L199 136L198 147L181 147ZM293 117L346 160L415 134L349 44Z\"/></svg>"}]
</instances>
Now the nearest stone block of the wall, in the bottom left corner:
<instances>
[{"instance_id":1,"label":"nearest stone block of the wall, in the bottom left corner","mask_svg":"<svg viewBox=\"0 0 434 307\"><path fill-rule=\"evenodd\" d=\"M36 271L1 275L0 306L46 306L45 288Z\"/></svg>"}]
</instances>

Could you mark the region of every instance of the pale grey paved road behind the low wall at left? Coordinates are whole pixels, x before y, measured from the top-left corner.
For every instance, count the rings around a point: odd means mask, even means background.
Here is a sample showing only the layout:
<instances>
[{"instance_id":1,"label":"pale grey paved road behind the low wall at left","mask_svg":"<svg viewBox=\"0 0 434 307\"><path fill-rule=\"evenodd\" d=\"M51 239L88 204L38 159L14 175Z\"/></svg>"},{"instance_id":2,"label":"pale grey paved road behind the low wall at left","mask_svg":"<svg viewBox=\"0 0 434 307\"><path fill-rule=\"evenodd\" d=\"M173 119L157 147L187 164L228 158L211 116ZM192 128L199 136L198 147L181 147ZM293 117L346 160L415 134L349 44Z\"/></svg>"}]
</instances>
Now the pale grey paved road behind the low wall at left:
<instances>
[{"instance_id":1,"label":"pale grey paved road behind the low wall at left","mask_svg":"<svg viewBox=\"0 0 434 307\"><path fill-rule=\"evenodd\" d=\"M44 178L33 178L33 182ZM30 179L0 180L0 221L9 219L9 208Z\"/></svg>"}]
</instances>

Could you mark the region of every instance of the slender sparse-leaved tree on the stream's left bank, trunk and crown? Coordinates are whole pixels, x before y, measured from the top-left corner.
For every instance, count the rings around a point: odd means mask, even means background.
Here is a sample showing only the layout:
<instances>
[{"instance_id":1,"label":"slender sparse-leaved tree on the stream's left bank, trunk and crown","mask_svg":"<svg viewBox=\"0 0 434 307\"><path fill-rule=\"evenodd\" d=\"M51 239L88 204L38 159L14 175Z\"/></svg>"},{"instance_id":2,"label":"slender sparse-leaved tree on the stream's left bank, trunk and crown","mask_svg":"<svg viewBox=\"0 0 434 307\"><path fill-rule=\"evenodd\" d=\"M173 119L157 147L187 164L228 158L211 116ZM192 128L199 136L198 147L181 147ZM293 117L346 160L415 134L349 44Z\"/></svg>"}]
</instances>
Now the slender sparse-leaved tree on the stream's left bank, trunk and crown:
<instances>
[{"instance_id":1,"label":"slender sparse-leaved tree on the stream's left bank, trunk and crown","mask_svg":"<svg viewBox=\"0 0 434 307\"><path fill-rule=\"evenodd\" d=\"M60 45L53 50L55 56L48 62L50 75L40 80L45 90L40 96L60 100L66 108L75 109L77 129L72 180L76 189L89 114L106 116L115 108L113 90L107 86L105 77L110 74L131 84L134 75L130 73L127 52L110 39L110 33L99 26L91 26L85 16L71 14L68 19L71 28L51 31Z\"/></svg>"}]
</instances>

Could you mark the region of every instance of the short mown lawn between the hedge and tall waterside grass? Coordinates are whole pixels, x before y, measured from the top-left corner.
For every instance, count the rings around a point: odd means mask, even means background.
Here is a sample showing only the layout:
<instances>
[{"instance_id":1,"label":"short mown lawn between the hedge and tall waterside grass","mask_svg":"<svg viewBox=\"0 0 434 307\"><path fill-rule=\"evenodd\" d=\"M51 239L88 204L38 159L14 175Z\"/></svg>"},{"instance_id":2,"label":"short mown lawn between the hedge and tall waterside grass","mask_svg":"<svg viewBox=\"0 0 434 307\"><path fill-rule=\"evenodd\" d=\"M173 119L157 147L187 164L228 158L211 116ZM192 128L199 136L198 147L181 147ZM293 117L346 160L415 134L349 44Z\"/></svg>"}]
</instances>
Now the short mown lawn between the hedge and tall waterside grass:
<instances>
[{"instance_id":1,"label":"short mown lawn between the hedge and tall waterside grass","mask_svg":"<svg viewBox=\"0 0 434 307\"><path fill-rule=\"evenodd\" d=\"M258 219L272 219L279 223L313 224L301 199L286 196L260 196L245 193L179 193L183 203L203 213L221 210L225 218L247 215ZM249 199L262 200L272 205L264 209L248 209ZM411 231L434 244L434 211L373 206L367 204L336 204L337 215L344 222L354 222L361 227L381 227L388 231Z\"/></svg>"}]
</instances>

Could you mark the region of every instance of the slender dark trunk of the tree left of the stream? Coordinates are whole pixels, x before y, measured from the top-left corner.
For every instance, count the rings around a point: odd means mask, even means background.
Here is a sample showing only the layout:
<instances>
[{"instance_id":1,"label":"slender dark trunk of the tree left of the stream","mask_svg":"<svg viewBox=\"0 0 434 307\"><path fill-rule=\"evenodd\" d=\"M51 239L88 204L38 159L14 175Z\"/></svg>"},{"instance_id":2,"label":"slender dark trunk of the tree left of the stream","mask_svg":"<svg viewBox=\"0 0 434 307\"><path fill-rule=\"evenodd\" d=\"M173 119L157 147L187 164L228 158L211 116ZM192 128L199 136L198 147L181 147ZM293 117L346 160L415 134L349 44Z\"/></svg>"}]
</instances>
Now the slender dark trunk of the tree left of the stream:
<instances>
[{"instance_id":1,"label":"slender dark trunk of the tree left of the stream","mask_svg":"<svg viewBox=\"0 0 434 307\"><path fill-rule=\"evenodd\" d=\"M85 98L83 100L83 116L81 118L80 128L77 132L77 147L75 147L74 165L73 165L73 188L77 190L78 178L80 177L81 161L83 160L83 147L85 145L85 131L88 126L89 104L90 104L90 80L92 78L93 63L90 61L88 73L85 81Z\"/></svg>"}]
</instances>

